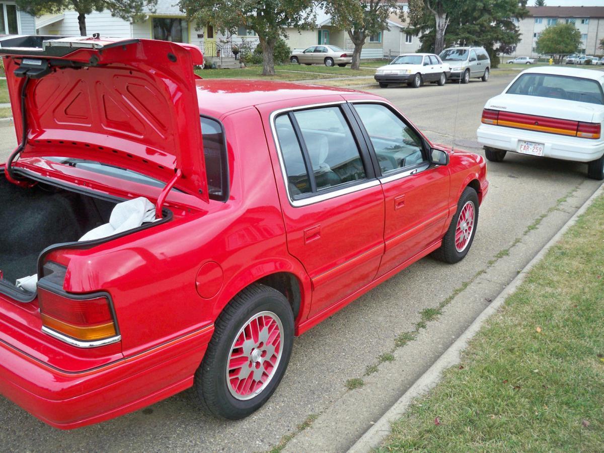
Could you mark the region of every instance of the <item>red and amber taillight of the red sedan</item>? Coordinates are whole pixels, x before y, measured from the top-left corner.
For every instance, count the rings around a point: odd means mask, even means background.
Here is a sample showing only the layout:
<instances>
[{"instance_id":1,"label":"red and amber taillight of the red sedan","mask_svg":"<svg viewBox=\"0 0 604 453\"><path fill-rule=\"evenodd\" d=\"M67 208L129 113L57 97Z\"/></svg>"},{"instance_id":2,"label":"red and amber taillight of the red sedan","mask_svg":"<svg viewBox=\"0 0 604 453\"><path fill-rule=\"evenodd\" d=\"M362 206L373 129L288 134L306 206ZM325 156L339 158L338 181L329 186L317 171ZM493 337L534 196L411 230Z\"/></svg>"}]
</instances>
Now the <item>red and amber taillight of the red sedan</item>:
<instances>
[{"instance_id":1,"label":"red and amber taillight of the red sedan","mask_svg":"<svg viewBox=\"0 0 604 453\"><path fill-rule=\"evenodd\" d=\"M98 341L117 335L107 297L72 299L38 288L42 325L80 341Z\"/></svg>"}]
</instances>

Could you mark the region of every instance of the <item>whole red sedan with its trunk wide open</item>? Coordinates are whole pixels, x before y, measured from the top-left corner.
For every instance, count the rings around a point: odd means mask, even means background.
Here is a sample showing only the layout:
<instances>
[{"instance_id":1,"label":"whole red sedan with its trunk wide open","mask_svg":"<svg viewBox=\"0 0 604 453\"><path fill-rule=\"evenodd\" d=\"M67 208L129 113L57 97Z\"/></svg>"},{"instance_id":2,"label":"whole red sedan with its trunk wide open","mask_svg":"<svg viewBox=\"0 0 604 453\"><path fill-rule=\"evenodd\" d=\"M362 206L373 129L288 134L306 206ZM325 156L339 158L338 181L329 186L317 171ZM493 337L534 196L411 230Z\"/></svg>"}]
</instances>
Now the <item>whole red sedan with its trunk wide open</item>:
<instances>
[{"instance_id":1,"label":"whole red sedan with its trunk wide open","mask_svg":"<svg viewBox=\"0 0 604 453\"><path fill-rule=\"evenodd\" d=\"M57 428L189 387L245 417L294 336L472 245L484 159L384 98L201 80L197 48L153 40L0 54L20 143L0 176L0 393Z\"/></svg>"}]
</instances>

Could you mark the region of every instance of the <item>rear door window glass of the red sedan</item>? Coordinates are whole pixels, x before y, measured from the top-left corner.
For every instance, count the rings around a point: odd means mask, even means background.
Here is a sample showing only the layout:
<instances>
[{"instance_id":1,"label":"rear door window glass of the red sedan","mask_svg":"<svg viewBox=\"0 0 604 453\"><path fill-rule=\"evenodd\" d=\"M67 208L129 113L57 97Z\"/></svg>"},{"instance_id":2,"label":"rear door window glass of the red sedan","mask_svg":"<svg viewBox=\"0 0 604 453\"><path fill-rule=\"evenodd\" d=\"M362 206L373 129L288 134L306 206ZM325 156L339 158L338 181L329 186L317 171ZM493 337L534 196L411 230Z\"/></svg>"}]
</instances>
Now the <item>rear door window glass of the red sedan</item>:
<instances>
[{"instance_id":1,"label":"rear door window glass of the red sedan","mask_svg":"<svg viewBox=\"0 0 604 453\"><path fill-rule=\"evenodd\" d=\"M367 177L359 147L339 107L280 115L275 129L292 198Z\"/></svg>"}]
</instances>

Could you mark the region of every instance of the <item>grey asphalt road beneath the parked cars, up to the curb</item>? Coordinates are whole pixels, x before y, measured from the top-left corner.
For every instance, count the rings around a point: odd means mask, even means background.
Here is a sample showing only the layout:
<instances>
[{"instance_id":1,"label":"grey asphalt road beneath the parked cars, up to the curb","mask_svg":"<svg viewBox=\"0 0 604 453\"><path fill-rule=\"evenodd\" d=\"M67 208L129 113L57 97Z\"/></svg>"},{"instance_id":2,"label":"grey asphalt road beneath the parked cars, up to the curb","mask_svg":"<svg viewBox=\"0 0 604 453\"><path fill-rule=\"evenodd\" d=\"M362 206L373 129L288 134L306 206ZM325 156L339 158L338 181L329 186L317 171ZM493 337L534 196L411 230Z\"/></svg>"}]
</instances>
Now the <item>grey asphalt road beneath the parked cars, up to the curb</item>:
<instances>
[{"instance_id":1,"label":"grey asphalt road beneath the parked cars, up to the curb","mask_svg":"<svg viewBox=\"0 0 604 453\"><path fill-rule=\"evenodd\" d=\"M475 142L482 108L511 79L495 76L487 83L374 92L399 106L431 140L482 153ZM14 132L0 126L0 158L14 144ZM489 164L490 191L466 259L452 266L423 259L298 338L280 387L268 404L245 420L206 417L186 394L178 394L100 425L62 432L0 397L0 451L265 451L283 435L294 433L309 414L320 417L288 449L342 451L404 393L472 322L485 300L494 299L599 187L585 174L582 164L530 156L508 155L504 162ZM538 227L528 228L539 217ZM521 242L510 248L516 238ZM474 281L439 321L422 330L416 342L397 350L394 362L380 365L377 373L365 378L364 388L347 390L347 379L362 377L367 365L390 351L399 333L413 330L421 310L438 306L483 270L488 280ZM483 286L475 288L479 283Z\"/></svg>"}]
</instances>

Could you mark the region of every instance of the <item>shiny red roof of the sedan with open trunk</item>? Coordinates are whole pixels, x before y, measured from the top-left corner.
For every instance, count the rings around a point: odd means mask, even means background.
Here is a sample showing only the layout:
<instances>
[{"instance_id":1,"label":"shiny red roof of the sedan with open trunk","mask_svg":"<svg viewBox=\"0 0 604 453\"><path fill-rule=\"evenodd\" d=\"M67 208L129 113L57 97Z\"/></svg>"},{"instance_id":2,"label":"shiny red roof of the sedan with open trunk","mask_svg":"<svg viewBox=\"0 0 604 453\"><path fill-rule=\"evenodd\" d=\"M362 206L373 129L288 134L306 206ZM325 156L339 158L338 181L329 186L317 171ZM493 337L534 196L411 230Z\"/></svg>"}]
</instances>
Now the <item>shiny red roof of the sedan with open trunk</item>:
<instances>
[{"instance_id":1,"label":"shiny red roof of the sedan with open trunk","mask_svg":"<svg viewBox=\"0 0 604 453\"><path fill-rule=\"evenodd\" d=\"M216 118L274 101L359 93L353 89L270 80L199 79L195 85L199 112ZM314 99L310 103L313 102Z\"/></svg>"}]
</instances>

